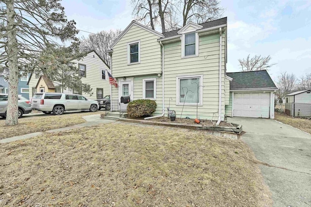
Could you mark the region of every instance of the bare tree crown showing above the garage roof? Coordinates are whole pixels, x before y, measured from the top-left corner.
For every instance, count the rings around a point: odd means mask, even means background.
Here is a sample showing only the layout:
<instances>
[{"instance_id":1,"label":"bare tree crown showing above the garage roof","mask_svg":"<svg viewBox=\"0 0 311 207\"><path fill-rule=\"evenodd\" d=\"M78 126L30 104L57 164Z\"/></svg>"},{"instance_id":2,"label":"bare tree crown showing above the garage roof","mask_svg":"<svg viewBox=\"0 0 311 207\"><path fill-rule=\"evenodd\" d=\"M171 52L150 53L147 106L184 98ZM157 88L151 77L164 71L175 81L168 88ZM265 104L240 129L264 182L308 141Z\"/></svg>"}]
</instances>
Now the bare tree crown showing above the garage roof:
<instances>
[{"instance_id":1,"label":"bare tree crown showing above the garage roof","mask_svg":"<svg viewBox=\"0 0 311 207\"><path fill-rule=\"evenodd\" d=\"M255 55L250 58L250 55L246 59L239 59L239 63L242 67L242 71L257 71L265 70L275 64L269 64L271 61L270 55L267 57L261 57L261 55Z\"/></svg>"}]
</instances>

